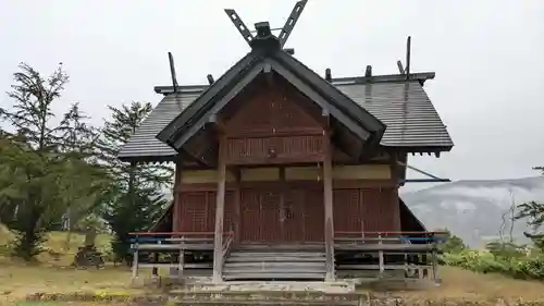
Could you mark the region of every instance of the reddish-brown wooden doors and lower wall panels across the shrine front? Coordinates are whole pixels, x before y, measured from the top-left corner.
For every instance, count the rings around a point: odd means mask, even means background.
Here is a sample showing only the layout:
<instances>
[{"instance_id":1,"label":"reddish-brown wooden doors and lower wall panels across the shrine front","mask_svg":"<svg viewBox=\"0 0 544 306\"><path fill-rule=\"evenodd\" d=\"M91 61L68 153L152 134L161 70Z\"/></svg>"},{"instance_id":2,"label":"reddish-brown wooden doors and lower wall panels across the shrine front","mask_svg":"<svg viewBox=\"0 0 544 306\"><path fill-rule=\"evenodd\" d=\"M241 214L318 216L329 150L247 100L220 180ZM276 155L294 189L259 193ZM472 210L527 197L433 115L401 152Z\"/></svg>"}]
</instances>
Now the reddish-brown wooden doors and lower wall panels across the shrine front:
<instances>
[{"instance_id":1,"label":"reddish-brown wooden doors and lower wall panels across the shrine front","mask_svg":"<svg viewBox=\"0 0 544 306\"><path fill-rule=\"evenodd\" d=\"M273 183L271 183L273 184ZM334 189L334 229L341 232L400 231L398 194L395 188ZM213 232L215 192L182 194L182 232ZM234 192L226 193L224 230L235 229ZM324 240L323 189L290 187L240 191L240 241L322 242Z\"/></svg>"}]
</instances>

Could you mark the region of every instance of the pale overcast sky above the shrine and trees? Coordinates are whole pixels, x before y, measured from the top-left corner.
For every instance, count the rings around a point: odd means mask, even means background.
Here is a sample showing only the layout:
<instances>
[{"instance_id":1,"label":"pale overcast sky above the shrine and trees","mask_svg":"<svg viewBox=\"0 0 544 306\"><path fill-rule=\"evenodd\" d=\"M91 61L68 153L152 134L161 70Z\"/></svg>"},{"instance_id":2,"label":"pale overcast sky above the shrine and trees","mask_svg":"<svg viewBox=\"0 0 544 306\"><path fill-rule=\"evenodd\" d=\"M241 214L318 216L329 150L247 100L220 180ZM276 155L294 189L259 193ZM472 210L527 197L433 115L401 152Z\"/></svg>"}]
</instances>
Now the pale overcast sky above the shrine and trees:
<instances>
[{"instance_id":1,"label":"pale overcast sky above the shrine and trees","mask_svg":"<svg viewBox=\"0 0 544 306\"><path fill-rule=\"evenodd\" d=\"M170 85L166 52L180 84L218 78L249 49L223 9L246 25L283 26L294 0L0 1L0 91L25 61L70 73L55 110L79 101L96 124L107 105L151 101ZM287 47L320 74L396 73L412 36L412 72L425 83L454 139L440 159L411 164L453 180L514 179L544 164L544 1L310 0ZM11 101L0 96L0 106Z\"/></svg>"}]
</instances>

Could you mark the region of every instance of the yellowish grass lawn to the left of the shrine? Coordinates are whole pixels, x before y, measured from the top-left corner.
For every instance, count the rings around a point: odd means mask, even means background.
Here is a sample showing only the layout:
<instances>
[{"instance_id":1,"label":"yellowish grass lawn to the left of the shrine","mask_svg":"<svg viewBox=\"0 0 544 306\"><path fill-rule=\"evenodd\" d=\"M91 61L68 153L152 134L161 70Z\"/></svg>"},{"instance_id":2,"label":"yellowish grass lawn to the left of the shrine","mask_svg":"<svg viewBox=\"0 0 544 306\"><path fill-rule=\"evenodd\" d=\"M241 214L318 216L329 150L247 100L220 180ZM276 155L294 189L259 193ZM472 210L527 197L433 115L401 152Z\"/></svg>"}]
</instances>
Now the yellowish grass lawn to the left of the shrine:
<instances>
[{"instance_id":1,"label":"yellowish grass lawn to the left of the shrine","mask_svg":"<svg viewBox=\"0 0 544 306\"><path fill-rule=\"evenodd\" d=\"M89 291L96 293L138 294L141 290L129 287L131 271L127 267L107 266L103 270L78 270L70 267L77 248L83 245L84 236L72 234L66 244L67 235L63 232L52 232L48 235L45 252L38 256L39 262L28 265L13 259L8 254L0 254L0 306L17 305L21 299L36 292L71 293ZM109 248L110 236L98 235L97 247ZM0 250L13 240L13 235L0 224ZM67 247L66 247L67 246ZM99 303L60 303L60 302L25 302L24 306L102 306ZM17 306L18 306L17 305Z\"/></svg>"}]
</instances>

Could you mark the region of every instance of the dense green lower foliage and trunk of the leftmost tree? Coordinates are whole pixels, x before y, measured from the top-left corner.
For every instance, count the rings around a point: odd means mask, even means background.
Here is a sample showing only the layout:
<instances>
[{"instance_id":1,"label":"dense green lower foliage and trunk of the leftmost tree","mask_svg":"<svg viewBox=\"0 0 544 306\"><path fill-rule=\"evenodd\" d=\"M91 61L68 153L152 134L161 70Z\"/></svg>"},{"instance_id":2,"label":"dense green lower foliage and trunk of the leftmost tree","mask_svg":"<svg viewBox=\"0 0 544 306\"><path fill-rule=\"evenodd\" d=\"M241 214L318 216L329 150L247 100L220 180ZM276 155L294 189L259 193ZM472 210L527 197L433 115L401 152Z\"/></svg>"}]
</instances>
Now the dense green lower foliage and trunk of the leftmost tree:
<instances>
[{"instance_id":1,"label":"dense green lower foliage and trunk of the leftmost tree","mask_svg":"<svg viewBox=\"0 0 544 306\"><path fill-rule=\"evenodd\" d=\"M62 210L57 193L61 169L48 161L44 152L24 144L10 144L0 151L0 163L9 174L0 182L7 203L1 221L16 233L14 250L25 260L39 254L45 232L55 225Z\"/></svg>"}]
</instances>

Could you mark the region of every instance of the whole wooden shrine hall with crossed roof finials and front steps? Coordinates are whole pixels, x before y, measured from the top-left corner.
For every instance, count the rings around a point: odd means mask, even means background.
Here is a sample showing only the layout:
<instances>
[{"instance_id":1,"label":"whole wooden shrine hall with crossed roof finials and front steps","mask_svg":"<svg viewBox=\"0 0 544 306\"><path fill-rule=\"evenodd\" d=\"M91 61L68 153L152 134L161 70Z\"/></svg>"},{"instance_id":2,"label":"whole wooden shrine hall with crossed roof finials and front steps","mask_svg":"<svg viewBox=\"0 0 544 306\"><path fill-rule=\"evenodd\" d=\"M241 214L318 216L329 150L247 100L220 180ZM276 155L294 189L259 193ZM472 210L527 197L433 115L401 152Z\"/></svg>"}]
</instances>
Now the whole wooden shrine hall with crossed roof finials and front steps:
<instances>
[{"instance_id":1,"label":"whole wooden shrine hall with crossed roof finials and front steps","mask_svg":"<svg viewBox=\"0 0 544 306\"><path fill-rule=\"evenodd\" d=\"M285 49L305 5L277 36L225 10L250 50L207 85L178 85L170 56L172 86L154 88L162 100L119 152L176 169L172 206L135 233L135 274L138 256L163 252L140 267L215 282L436 278L434 233L398 196L408 155L453 147L423 89L435 74L410 72L409 39L398 74L316 73Z\"/></svg>"}]
</instances>

